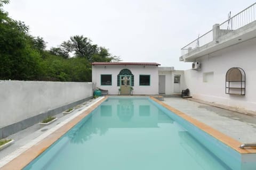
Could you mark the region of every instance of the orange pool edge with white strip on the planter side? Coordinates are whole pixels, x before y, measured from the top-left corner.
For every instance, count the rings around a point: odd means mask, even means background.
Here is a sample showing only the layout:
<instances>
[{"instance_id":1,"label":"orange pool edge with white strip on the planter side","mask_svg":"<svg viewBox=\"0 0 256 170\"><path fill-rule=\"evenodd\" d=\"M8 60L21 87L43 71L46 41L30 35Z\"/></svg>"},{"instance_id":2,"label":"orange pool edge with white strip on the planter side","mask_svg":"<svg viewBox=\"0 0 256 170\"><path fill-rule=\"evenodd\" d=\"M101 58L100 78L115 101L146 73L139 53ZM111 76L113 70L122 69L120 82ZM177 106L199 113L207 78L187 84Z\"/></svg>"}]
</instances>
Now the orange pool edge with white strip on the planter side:
<instances>
[{"instance_id":1,"label":"orange pool edge with white strip on the planter side","mask_svg":"<svg viewBox=\"0 0 256 170\"><path fill-rule=\"evenodd\" d=\"M57 129L49 130L39 137L37 142L31 146L22 146L10 154L10 158L7 158L7 163L0 167L1 170L7 169L22 169L25 168L31 161L37 158L42 152L49 148L55 141L60 139L63 134L73 128L84 117L89 115L95 108L97 108L108 96L93 103L90 107L84 108L81 113L77 113L74 118L71 118L67 123L61 125ZM58 125L56 125L58 126ZM28 147L28 148L27 148ZM18 154L18 152L21 152ZM10 159L10 160L9 160Z\"/></svg>"}]
</instances>

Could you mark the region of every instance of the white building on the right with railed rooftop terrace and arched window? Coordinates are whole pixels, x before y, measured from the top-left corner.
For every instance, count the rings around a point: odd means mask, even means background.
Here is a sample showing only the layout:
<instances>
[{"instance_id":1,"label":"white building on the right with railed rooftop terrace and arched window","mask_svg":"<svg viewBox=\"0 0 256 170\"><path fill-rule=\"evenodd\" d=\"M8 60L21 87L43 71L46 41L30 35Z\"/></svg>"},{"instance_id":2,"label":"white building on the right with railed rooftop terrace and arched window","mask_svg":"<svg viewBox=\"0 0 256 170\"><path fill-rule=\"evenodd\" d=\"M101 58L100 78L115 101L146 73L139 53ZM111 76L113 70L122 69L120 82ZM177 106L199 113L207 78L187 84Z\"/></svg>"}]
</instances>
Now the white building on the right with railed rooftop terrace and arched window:
<instances>
[{"instance_id":1,"label":"white building on the right with railed rooftop terrace and arched window","mask_svg":"<svg viewBox=\"0 0 256 170\"><path fill-rule=\"evenodd\" d=\"M256 5L234 15L181 49L193 98L256 111ZM230 70L231 69L231 70Z\"/></svg>"}]
</instances>

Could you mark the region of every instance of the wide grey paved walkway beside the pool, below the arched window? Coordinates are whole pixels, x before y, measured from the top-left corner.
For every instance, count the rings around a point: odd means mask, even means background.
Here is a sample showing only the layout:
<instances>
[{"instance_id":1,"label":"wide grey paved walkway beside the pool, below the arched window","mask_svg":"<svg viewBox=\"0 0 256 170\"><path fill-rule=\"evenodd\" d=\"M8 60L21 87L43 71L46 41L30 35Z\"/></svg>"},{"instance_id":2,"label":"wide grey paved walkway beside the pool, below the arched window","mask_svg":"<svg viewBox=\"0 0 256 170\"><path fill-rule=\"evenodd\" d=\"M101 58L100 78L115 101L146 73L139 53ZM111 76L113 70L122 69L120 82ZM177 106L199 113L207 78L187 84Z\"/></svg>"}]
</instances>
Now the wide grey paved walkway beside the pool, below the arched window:
<instances>
[{"instance_id":1,"label":"wide grey paved walkway beside the pool, below the arched window","mask_svg":"<svg viewBox=\"0 0 256 170\"><path fill-rule=\"evenodd\" d=\"M164 103L242 143L256 142L256 116L245 115L182 98L164 98Z\"/></svg>"}]
</instances>

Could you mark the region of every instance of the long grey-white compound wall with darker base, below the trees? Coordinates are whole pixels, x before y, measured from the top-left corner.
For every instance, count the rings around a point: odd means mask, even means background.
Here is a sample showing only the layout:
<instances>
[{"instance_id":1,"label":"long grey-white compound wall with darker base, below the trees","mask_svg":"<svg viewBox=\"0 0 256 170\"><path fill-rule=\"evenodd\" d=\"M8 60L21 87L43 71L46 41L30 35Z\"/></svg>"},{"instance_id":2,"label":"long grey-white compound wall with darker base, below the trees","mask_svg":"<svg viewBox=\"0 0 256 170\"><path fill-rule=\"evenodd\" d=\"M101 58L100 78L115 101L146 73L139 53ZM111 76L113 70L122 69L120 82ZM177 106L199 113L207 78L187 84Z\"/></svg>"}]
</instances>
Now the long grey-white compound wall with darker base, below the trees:
<instances>
[{"instance_id":1,"label":"long grey-white compound wall with darker base, below the trees","mask_svg":"<svg viewBox=\"0 0 256 170\"><path fill-rule=\"evenodd\" d=\"M93 96L91 82L0 81L0 139Z\"/></svg>"}]
</instances>

